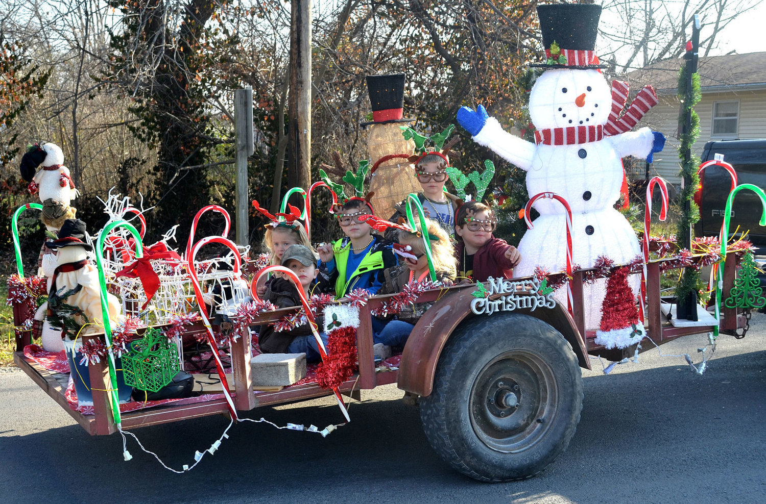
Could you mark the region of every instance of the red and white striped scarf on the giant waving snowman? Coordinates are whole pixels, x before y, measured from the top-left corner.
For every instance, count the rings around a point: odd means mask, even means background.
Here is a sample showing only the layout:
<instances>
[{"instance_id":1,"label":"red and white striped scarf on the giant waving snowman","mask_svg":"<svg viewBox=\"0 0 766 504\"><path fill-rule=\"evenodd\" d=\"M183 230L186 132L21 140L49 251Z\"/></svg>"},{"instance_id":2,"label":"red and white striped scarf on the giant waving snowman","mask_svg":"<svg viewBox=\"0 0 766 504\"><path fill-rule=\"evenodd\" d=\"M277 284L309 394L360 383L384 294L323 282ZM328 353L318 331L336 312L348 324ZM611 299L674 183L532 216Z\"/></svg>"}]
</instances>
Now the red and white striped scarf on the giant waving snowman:
<instances>
[{"instance_id":1,"label":"red and white striped scarf on the giant waving snowman","mask_svg":"<svg viewBox=\"0 0 766 504\"><path fill-rule=\"evenodd\" d=\"M630 87L621 80L612 81L612 109L605 125L569 126L568 128L546 128L535 132L535 144L577 145L599 141L605 136L619 135L630 131L657 104L657 96L652 86L643 86L630 102L625 113L620 112L627 102Z\"/></svg>"}]
</instances>

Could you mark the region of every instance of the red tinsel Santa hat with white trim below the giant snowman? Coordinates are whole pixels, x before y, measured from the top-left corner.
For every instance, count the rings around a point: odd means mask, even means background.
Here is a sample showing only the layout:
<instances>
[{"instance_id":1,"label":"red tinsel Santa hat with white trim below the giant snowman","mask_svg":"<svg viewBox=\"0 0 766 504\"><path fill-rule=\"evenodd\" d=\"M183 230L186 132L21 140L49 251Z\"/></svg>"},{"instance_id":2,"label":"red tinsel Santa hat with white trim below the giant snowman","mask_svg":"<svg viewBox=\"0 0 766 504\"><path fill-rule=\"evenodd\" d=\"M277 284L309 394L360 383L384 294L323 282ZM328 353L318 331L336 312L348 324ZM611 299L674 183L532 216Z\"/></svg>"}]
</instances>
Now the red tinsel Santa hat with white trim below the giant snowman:
<instances>
[{"instance_id":1,"label":"red tinsel Santa hat with white trim below the giant snowman","mask_svg":"<svg viewBox=\"0 0 766 504\"><path fill-rule=\"evenodd\" d=\"M627 283L630 268L617 268L607 280L607 294L601 310L601 326L596 330L597 345L607 350L627 348L647 335L638 316L636 299Z\"/></svg>"}]
</instances>

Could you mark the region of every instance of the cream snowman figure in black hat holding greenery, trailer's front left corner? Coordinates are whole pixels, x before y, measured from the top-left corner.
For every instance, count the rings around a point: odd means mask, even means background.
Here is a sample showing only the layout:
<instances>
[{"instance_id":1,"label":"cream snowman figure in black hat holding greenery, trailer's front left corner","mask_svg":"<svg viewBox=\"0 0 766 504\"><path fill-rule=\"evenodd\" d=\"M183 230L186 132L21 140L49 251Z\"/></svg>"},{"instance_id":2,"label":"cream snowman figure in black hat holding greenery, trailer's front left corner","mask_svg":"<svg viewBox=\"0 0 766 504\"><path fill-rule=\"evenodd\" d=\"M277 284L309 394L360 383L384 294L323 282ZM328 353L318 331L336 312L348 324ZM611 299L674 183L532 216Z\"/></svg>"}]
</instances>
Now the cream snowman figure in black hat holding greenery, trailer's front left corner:
<instances>
[{"instance_id":1,"label":"cream snowman figure in black hat holding greenery, trailer's front left corner","mask_svg":"<svg viewBox=\"0 0 766 504\"><path fill-rule=\"evenodd\" d=\"M93 247L84 239L85 223L80 219L67 219L61 226L58 238L46 243L49 249L57 251L57 265L50 278L48 301L41 304L34 318L45 320L44 327L47 325L57 331L58 343L61 342L62 330L63 336L70 340L77 337L80 327L83 334L103 330L98 270L88 259L87 252L93 250ZM107 293L106 304L110 322L114 326L119 321L119 300ZM71 320L63 320L65 318ZM47 341L46 333L43 332L44 350L63 350L63 344L59 349L57 342Z\"/></svg>"}]
</instances>

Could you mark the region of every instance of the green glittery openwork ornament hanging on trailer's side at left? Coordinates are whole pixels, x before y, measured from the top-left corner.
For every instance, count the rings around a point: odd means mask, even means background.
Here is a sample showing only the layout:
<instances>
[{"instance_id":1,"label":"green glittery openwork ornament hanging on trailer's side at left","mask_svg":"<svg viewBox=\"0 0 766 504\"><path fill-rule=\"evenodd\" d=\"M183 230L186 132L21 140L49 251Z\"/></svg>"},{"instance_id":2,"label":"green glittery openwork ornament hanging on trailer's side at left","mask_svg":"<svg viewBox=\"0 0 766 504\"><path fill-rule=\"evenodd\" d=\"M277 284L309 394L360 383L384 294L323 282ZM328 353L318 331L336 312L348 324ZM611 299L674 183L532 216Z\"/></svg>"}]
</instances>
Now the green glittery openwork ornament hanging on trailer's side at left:
<instances>
[{"instance_id":1,"label":"green glittery openwork ornament hanging on trailer's side at left","mask_svg":"<svg viewBox=\"0 0 766 504\"><path fill-rule=\"evenodd\" d=\"M157 392L172 382L178 369L178 348L154 327L123 355L125 382L135 389Z\"/></svg>"}]
</instances>

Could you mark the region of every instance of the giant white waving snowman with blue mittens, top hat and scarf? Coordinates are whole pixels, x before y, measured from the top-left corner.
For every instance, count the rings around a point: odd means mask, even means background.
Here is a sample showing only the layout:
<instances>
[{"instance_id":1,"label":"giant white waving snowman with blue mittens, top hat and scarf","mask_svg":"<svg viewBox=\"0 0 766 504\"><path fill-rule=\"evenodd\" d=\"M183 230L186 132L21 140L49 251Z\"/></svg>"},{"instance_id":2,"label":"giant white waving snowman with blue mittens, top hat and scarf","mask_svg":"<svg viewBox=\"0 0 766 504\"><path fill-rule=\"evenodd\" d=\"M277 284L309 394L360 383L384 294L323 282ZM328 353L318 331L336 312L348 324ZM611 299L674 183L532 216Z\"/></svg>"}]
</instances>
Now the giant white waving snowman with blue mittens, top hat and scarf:
<instances>
[{"instance_id":1,"label":"giant white waving snowman with blue mittens, top hat and scarf","mask_svg":"<svg viewBox=\"0 0 766 504\"><path fill-rule=\"evenodd\" d=\"M542 41L548 59L532 65L543 67L529 95L529 115L535 125L535 143L502 130L483 106L476 111L463 107L457 121L473 140L526 171L529 197L557 193L572 211L573 262L589 268L600 255L616 264L630 262L641 249L638 239L614 203L624 178L622 159L637 156L652 160L665 137L649 128L630 129L640 120L656 96L644 87L620 116L627 99L627 85L609 85L601 74L594 52L601 6L593 4L538 5ZM535 203L540 213L534 228L519 243L522 262L517 276L532 275L536 266L559 272L566 264L564 207L555 200ZM637 279L632 282L637 291ZM585 285L585 324L598 327L606 282ZM564 289L556 297L565 303Z\"/></svg>"}]
</instances>

